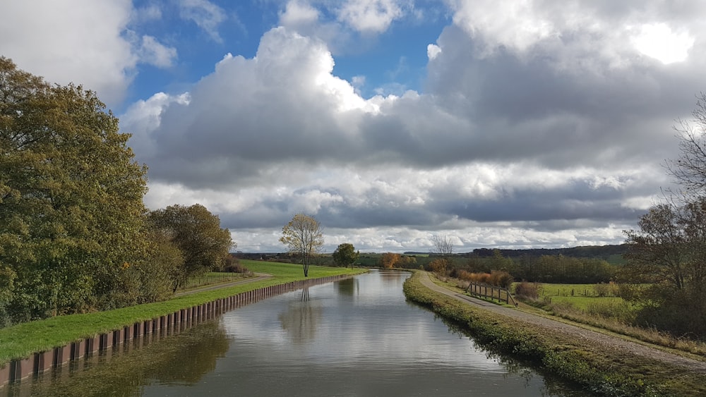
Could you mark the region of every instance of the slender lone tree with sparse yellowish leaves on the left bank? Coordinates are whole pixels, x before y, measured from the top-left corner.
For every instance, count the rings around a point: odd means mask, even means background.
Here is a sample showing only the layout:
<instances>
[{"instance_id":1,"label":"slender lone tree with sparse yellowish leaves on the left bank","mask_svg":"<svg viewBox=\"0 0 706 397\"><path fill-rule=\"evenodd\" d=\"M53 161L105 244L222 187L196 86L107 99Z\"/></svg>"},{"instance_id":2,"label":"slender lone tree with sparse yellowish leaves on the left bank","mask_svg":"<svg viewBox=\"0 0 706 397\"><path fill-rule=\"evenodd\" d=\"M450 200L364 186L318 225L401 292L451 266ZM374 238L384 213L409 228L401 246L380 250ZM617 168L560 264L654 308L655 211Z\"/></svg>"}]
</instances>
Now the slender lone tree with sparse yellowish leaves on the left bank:
<instances>
[{"instance_id":1,"label":"slender lone tree with sparse yellowish leaves on the left bank","mask_svg":"<svg viewBox=\"0 0 706 397\"><path fill-rule=\"evenodd\" d=\"M294 215L282 228L280 242L287 245L290 254L301 257L304 277L308 277L311 258L323 247L323 230L318 221L313 216Z\"/></svg>"}]
</instances>

